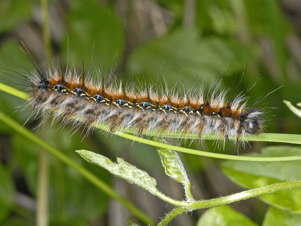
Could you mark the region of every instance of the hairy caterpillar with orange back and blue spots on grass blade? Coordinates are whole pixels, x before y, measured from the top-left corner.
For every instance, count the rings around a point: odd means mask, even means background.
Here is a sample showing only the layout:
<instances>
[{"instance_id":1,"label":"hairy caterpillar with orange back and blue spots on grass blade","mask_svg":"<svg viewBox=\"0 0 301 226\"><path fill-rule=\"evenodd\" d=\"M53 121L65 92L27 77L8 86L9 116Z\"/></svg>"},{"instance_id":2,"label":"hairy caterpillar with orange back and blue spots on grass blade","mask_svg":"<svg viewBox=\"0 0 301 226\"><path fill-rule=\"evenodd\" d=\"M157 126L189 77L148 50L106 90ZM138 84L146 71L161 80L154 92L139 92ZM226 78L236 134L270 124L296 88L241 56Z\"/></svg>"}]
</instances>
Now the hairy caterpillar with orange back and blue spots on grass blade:
<instances>
[{"instance_id":1,"label":"hairy caterpillar with orange back and blue spots on grass blade","mask_svg":"<svg viewBox=\"0 0 301 226\"><path fill-rule=\"evenodd\" d=\"M26 54L34 68L19 72L29 94L26 106L45 118L53 114L53 121L61 120L63 125L83 125L87 133L93 125L104 124L111 132L131 128L139 136L176 133L186 137L197 134L202 139L217 134L225 144L230 138L244 143L246 134L257 135L265 129L260 100L247 107L248 98L237 89L227 98L231 89L219 91L221 76L213 89L204 83L191 90L184 86L181 96L178 83L173 89L163 85L159 89L157 79L136 88L132 81L117 79L112 68L107 79L100 71L92 72L92 61L84 74L74 66L68 67L68 60L63 70L53 64L38 64L28 51ZM93 73L96 78L92 78Z\"/></svg>"}]
</instances>

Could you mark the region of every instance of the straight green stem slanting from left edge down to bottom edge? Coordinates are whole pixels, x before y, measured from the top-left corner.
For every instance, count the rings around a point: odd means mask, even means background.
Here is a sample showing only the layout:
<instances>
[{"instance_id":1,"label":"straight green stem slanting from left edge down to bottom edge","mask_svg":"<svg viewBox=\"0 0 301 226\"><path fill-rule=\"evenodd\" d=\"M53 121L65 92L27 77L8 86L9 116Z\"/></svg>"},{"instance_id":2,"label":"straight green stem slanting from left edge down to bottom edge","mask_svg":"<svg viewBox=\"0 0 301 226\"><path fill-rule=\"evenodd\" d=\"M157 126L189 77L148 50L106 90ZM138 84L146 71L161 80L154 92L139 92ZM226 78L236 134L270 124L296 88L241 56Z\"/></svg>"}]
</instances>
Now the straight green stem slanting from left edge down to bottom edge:
<instances>
[{"instance_id":1,"label":"straight green stem slanting from left edge down to bottom edge","mask_svg":"<svg viewBox=\"0 0 301 226\"><path fill-rule=\"evenodd\" d=\"M36 143L40 147L47 150L50 154L54 155L57 159L60 159L66 165L69 165L73 169L75 169L79 174L81 174L84 178L106 193L108 196L111 196L113 199L116 199L121 204L123 204L129 211L131 211L140 221L147 225L154 225L154 221L152 221L147 215L145 215L140 209L138 209L135 205L133 205L129 200L123 198L118 193L116 193L109 185L107 185L104 181L99 179L95 174L92 174L90 171L82 167L81 165L74 162L70 159L67 155L59 151L58 149L54 148L53 146L49 145L45 141L41 140L31 131L27 130L25 127L18 124L13 119L9 118L5 114L0 111L0 121L6 124L7 126L11 127L28 140L31 140L33 143Z\"/></svg>"}]
</instances>

